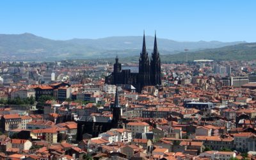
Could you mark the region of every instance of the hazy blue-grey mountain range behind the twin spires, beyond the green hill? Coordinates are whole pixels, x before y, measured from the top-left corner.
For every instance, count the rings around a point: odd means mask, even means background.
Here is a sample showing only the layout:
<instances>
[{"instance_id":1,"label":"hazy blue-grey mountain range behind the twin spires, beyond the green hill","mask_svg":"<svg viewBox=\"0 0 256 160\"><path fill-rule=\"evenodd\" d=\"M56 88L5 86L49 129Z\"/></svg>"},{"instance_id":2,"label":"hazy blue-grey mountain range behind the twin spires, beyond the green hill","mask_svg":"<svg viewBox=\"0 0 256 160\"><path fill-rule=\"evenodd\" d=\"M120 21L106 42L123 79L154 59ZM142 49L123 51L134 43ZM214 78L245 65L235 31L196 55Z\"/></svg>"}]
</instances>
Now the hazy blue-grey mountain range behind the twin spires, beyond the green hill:
<instances>
[{"instance_id":1,"label":"hazy blue-grey mountain range behind the twin spires, beyond the green hill","mask_svg":"<svg viewBox=\"0 0 256 160\"><path fill-rule=\"evenodd\" d=\"M148 53L153 49L154 37L146 36ZM177 42L157 38L162 55L214 49L246 42ZM0 34L0 61L53 61L86 58L113 58L138 56L142 36L111 36L99 39L50 40L31 33L21 35ZM175 54L177 55L177 54ZM167 55L166 55L167 56ZM171 55L168 55L171 56Z\"/></svg>"}]
</instances>

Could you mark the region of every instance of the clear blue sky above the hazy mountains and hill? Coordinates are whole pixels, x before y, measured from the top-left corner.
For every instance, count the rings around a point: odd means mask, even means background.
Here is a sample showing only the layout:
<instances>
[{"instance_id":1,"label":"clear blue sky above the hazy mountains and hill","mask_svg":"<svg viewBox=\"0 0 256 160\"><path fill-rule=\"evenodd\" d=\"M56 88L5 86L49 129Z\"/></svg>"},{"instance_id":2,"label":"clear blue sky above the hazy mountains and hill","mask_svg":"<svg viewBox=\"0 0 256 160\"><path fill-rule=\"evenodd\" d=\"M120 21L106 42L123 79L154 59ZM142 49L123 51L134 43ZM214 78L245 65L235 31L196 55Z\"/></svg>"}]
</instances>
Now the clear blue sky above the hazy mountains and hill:
<instances>
[{"instance_id":1,"label":"clear blue sky above the hazy mountains and hill","mask_svg":"<svg viewBox=\"0 0 256 160\"><path fill-rule=\"evenodd\" d=\"M256 1L1 0L0 33L54 40L146 35L256 42Z\"/></svg>"}]
</instances>

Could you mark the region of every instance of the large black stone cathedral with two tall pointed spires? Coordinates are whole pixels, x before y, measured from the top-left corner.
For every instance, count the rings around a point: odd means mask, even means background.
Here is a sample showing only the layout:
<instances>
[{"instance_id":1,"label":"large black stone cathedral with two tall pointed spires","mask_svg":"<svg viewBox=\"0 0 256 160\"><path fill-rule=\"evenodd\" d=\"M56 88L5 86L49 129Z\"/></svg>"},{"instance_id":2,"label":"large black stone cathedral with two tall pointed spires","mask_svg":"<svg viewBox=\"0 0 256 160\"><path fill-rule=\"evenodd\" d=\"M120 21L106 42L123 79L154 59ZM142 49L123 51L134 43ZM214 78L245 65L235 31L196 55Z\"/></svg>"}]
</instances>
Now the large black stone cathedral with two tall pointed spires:
<instances>
[{"instance_id":1,"label":"large black stone cathedral with two tall pointed spires","mask_svg":"<svg viewBox=\"0 0 256 160\"><path fill-rule=\"evenodd\" d=\"M141 92L144 86L161 85L161 60L157 50L156 34L154 50L149 60L146 49L145 34L143 35L142 51L139 60L139 73L132 73L131 70L122 70L121 64L116 57L112 74L105 78L107 84L132 84L137 92Z\"/></svg>"}]
</instances>

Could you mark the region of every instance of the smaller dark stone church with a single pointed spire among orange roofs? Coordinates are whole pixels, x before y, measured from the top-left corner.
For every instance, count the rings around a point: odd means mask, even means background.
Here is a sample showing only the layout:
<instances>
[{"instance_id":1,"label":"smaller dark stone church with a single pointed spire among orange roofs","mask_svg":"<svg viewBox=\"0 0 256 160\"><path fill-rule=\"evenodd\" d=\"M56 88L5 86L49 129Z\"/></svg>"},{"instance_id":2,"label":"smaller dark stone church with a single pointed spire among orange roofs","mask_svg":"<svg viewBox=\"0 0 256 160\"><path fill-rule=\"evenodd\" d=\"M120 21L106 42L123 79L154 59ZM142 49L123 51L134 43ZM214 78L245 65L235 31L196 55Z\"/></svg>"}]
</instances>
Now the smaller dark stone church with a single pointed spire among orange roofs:
<instances>
[{"instance_id":1,"label":"smaller dark stone church with a single pointed spire among orange roofs","mask_svg":"<svg viewBox=\"0 0 256 160\"><path fill-rule=\"evenodd\" d=\"M124 128L121 117L121 108L118 102L118 88L116 87L115 103L111 106L113 118L104 116L81 116L77 121L77 141L83 140L84 134L92 137L99 136L112 128Z\"/></svg>"}]
</instances>

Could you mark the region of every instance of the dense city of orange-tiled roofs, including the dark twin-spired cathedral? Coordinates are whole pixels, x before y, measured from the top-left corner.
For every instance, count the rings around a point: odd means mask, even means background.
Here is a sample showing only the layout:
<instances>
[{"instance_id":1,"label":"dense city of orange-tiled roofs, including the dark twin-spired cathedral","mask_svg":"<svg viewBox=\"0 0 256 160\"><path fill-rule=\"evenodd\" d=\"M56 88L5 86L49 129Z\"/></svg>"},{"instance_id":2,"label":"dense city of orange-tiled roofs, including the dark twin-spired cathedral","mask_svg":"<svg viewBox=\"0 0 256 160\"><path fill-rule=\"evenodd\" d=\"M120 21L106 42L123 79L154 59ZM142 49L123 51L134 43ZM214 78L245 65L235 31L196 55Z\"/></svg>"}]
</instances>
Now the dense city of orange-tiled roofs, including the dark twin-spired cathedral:
<instances>
[{"instance_id":1,"label":"dense city of orange-tiled roofs, including the dark twin-spired cathedral","mask_svg":"<svg viewBox=\"0 0 256 160\"><path fill-rule=\"evenodd\" d=\"M159 54L1 61L0 159L255 159L256 61Z\"/></svg>"}]
</instances>

